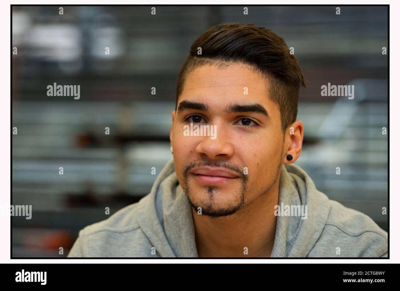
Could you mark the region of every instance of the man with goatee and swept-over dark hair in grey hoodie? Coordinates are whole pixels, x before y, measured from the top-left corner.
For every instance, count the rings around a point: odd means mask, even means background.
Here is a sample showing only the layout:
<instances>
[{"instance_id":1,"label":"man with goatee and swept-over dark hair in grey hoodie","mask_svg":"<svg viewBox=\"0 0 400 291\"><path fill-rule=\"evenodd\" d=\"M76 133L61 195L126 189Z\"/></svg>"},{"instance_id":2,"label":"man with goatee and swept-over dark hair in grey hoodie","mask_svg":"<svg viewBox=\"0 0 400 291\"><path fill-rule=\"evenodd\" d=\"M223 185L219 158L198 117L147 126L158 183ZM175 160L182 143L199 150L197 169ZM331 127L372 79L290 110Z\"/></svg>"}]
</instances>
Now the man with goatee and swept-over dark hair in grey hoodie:
<instances>
[{"instance_id":1,"label":"man with goatee and swept-over dark hair in grey hoodie","mask_svg":"<svg viewBox=\"0 0 400 291\"><path fill-rule=\"evenodd\" d=\"M387 257L363 213L293 163L298 62L271 30L213 26L178 75L171 159L151 192L80 231L69 257Z\"/></svg>"}]
</instances>

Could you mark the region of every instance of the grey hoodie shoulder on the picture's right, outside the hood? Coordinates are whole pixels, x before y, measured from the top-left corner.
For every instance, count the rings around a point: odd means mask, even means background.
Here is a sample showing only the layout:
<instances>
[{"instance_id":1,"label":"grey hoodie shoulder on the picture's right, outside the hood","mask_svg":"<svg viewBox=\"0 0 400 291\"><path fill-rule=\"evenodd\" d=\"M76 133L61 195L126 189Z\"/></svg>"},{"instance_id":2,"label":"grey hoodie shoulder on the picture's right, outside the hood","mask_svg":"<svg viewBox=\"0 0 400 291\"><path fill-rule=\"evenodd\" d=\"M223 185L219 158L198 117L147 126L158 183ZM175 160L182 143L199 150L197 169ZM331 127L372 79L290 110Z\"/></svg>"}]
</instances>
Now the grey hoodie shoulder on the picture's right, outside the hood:
<instances>
[{"instance_id":1,"label":"grey hoodie shoulder on the picture's right, outside the hood","mask_svg":"<svg viewBox=\"0 0 400 291\"><path fill-rule=\"evenodd\" d=\"M388 233L368 215L329 200L330 212L313 257L385 257ZM323 255L325 254L325 255Z\"/></svg>"}]
</instances>

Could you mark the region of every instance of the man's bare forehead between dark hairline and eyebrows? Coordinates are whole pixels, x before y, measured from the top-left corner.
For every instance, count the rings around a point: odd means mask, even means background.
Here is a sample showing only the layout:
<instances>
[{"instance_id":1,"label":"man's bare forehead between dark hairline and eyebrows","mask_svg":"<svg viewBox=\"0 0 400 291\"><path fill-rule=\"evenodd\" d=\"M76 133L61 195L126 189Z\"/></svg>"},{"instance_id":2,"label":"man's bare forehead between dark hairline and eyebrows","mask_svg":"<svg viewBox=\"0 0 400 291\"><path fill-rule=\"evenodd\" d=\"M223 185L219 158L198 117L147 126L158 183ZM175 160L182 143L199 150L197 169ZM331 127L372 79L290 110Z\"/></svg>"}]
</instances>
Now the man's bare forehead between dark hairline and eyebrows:
<instances>
[{"instance_id":1,"label":"man's bare forehead between dark hairline and eyebrows","mask_svg":"<svg viewBox=\"0 0 400 291\"><path fill-rule=\"evenodd\" d=\"M268 80L244 64L224 68L204 65L188 74L179 102L204 102L210 108L232 103L259 103L273 115L278 107L269 98L268 86Z\"/></svg>"}]
</instances>

